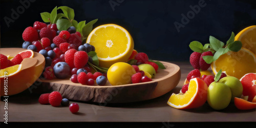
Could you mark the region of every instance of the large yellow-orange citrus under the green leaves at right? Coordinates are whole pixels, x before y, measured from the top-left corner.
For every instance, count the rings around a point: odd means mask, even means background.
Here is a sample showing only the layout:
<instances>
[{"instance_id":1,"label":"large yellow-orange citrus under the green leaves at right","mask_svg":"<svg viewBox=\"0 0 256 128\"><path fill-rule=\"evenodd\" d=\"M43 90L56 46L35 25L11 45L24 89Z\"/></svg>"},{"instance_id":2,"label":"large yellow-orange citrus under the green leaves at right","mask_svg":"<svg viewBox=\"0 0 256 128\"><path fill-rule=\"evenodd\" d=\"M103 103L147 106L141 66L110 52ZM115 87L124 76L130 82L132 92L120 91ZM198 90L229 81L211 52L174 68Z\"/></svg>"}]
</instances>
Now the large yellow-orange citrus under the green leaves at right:
<instances>
[{"instance_id":1,"label":"large yellow-orange citrus under the green leaves at right","mask_svg":"<svg viewBox=\"0 0 256 128\"><path fill-rule=\"evenodd\" d=\"M211 63L211 69L217 74L220 69L227 75L240 79L247 73L256 72L256 58L250 50L242 48L238 52L227 52Z\"/></svg>"}]
</instances>

